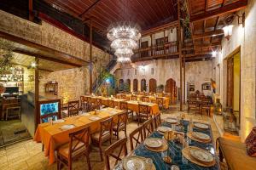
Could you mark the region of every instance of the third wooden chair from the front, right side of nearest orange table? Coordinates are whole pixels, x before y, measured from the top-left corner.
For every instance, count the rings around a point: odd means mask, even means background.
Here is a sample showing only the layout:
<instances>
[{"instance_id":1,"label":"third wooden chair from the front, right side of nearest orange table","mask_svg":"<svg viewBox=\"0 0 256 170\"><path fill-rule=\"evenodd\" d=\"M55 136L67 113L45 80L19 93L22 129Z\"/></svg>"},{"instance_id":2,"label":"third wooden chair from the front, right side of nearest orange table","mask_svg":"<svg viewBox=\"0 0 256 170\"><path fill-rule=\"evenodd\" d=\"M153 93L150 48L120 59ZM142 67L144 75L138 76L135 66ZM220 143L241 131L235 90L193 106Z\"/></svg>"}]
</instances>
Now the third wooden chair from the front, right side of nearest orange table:
<instances>
[{"instance_id":1,"label":"third wooden chair from the front, right side of nearest orange table","mask_svg":"<svg viewBox=\"0 0 256 170\"><path fill-rule=\"evenodd\" d=\"M125 137L127 137L126 134L126 124L127 124L127 112L119 114L118 116L118 122L113 126L113 134L119 139L119 132L125 131Z\"/></svg>"}]
</instances>

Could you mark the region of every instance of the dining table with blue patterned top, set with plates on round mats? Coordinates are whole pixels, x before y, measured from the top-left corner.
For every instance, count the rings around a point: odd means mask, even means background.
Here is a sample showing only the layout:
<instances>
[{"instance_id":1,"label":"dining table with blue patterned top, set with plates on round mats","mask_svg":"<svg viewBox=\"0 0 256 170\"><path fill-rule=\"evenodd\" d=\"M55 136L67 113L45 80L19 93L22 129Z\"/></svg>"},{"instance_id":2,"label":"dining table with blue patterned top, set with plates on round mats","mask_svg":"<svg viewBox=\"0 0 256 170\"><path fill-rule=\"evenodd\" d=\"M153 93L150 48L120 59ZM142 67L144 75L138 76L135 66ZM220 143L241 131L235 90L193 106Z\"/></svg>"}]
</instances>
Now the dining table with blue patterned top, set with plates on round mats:
<instances>
[{"instance_id":1,"label":"dining table with blue patterned top, set with plates on round mats","mask_svg":"<svg viewBox=\"0 0 256 170\"><path fill-rule=\"evenodd\" d=\"M197 127L189 128L188 120L181 120L180 125L181 126L175 126L174 130L184 134L184 139L187 144L185 147L188 147L188 145L196 146L203 150L209 151L215 159L215 164L212 167L201 167L200 165L197 165L192 161L189 161L188 159L186 159L182 153L184 144L177 143L176 141L173 141L173 140L166 141L168 145L168 149L160 152L148 150L147 146L144 144L144 142L142 142L141 144L137 145L135 150L132 150L131 153L128 154L128 156L141 156L146 159L150 158L153 161L154 167L156 170L170 170L173 165L179 167L180 170L220 170L219 160L215 152L215 146L214 146L213 137L212 137L212 128L210 124L208 124L209 128L204 130L199 129ZM170 124L169 122L162 122L160 126L172 127L173 129L172 124ZM201 143L201 142L197 142L192 139L189 139L186 133L188 133L191 130L193 130L193 132L201 132L209 135L211 138L211 142L206 144L206 143ZM164 139L163 136L164 136L163 133L160 133L157 130L154 130L154 132L151 133L147 137L147 139L148 138ZM125 158L127 158L128 156L125 156ZM163 160L165 156L170 156L172 159L172 162L166 163L166 161ZM119 161L119 163L113 169L114 170L123 169L122 168L123 160L125 159L123 158L122 161Z\"/></svg>"}]
</instances>

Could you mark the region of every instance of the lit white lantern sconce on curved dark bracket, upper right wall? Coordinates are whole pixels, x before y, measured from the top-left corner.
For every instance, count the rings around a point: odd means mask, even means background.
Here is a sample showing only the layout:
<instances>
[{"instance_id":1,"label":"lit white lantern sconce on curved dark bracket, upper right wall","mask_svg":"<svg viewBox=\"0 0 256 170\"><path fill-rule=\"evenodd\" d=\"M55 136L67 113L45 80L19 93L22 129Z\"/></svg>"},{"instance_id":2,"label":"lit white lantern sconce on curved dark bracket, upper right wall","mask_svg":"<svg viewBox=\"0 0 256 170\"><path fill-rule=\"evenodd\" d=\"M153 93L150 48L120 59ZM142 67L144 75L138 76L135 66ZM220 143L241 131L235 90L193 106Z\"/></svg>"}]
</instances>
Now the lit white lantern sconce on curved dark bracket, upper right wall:
<instances>
[{"instance_id":1,"label":"lit white lantern sconce on curved dark bracket, upper right wall","mask_svg":"<svg viewBox=\"0 0 256 170\"><path fill-rule=\"evenodd\" d=\"M237 22L238 25L242 25L242 27L245 26L245 13L242 13L241 16L238 14L231 14L225 19L225 23L231 23L232 20L237 17ZM232 36L232 31L233 31L233 25L227 24L227 26L223 27L224 31L224 37L227 38L227 40L230 40L230 37Z\"/></svg>"}]
</instances>

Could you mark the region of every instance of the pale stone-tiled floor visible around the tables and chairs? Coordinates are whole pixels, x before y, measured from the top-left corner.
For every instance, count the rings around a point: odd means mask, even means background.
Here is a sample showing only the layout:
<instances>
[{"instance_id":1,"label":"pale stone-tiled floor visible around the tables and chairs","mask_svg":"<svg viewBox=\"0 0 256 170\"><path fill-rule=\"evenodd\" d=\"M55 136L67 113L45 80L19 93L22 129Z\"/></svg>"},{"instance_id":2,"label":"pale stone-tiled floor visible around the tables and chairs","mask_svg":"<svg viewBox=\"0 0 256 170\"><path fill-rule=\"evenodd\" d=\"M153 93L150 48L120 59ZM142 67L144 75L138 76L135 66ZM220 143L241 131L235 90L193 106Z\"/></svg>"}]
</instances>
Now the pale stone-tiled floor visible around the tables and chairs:
<instances>
[{"instance_id":1,"label":"pale stone-tiled floor visible around the tables and chairs","mask_svg":"<svg viewBox=\"0 0 256 170\"><path fill-rule=\"evenodd\" d=\"M182 113L181 111L177 111L177 109L172 109L172 111L168 111L165 114L162 114L161 118L164 119L167 116L176 116ZM187 114L186 117L193 117L194 119L201 119L204 121L208 121L212 125L212 133L214 141L218 138L219 133L218 129L215 126L212 118L208 116L195 116L193 113ZM136 122L131 122L128 124L127 133L129 134L137 127ZM123 135L123 133L121 133ZM105 148L108 146L106 144ZM130 149L130 144L127 144L128 149ZM96 147L93 147L96 148ZM90 162L91 167L94 170L103 170L104 162L99 161L99 153L96 150L92 150L90 152ZM73 163L73 169L87 169L87 165L85 163L85 158L82 157ZM0 169L12 169L12 170L37 170L37 169L56 169L56 164L51 166L48 165L48 158L44 156L44 152L42 152L42 144L37 144L32 139L20 142L19 144L13 144L7 147L0 149Z\"/></svg>"}]
</instances>

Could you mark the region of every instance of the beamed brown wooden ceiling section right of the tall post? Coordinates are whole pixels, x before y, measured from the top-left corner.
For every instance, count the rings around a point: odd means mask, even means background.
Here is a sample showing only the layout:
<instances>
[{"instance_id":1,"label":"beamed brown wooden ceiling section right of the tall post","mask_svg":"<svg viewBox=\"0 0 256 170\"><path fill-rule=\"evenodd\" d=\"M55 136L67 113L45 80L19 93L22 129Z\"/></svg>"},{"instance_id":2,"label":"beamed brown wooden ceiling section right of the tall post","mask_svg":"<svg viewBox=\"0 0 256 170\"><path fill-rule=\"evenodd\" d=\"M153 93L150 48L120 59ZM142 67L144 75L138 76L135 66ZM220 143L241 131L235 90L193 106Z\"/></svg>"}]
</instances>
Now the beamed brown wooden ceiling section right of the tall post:
<instances>
[{"instance_id":1,"label":"beamed brown wooden ceiling section right of the tall post","mask_svg":"<svg viewBox=\"0 0 256 170\"><path fill-rule=\"evenodd\" d=\"M189 0L192 37L184 43L186 59L212 57L221 47L226 18L246 6L247 0Z\"/></svg>"}]
</instances>

